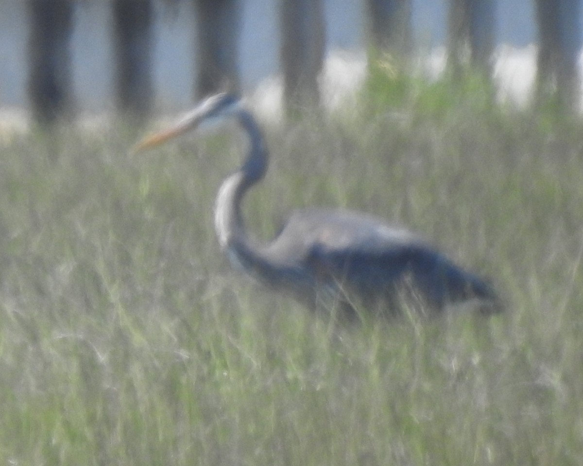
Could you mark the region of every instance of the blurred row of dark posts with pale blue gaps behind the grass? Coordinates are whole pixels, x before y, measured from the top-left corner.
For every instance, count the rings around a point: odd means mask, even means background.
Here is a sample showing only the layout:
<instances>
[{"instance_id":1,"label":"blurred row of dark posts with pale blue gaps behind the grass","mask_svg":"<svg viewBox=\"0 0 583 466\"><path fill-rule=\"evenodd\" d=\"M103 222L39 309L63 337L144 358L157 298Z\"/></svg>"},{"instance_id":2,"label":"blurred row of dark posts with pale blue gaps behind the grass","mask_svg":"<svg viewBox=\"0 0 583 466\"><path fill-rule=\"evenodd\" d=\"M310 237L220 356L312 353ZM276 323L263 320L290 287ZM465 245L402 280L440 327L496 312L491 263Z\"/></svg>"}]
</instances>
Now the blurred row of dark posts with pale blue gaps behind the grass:
<instances>
[{"instance_id":1,"label":"blurred row of dark posts with pale blue gaps behind the grass","mask_svg":"<svg viewBox=\"0 0 583 466\"><path fill-rule=\"evenodd\" d=\"M463 62L469 55L522 103L537 59L550 63L539 68L561 68L545 70L554 76L551 87L573 81L567 75L578 65L579 3L2 0L0 107L32 107L40 121L72 109L145 115L187 108L216 90L249 94L282 73L287 105L305 107L319 101L321 89L309 88L321 87L324 72L353 86L373 49L423 56L437 70L447 57ZM547 55L563 50L563 57L542 56L532 45L541 40Z\"/></svg>"}]
</instances>

